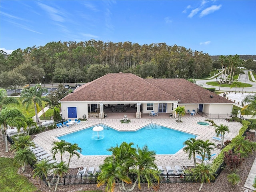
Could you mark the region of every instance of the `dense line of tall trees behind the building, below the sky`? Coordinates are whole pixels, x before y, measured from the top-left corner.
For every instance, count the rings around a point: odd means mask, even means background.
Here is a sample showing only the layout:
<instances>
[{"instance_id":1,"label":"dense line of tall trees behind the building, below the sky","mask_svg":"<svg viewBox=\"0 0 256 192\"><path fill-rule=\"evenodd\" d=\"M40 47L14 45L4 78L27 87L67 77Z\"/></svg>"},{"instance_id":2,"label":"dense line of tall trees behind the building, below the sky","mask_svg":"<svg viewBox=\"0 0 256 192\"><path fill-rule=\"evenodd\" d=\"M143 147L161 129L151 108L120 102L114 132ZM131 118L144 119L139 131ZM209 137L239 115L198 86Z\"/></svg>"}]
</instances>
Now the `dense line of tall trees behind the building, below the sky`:
<instances>
[{"instance_id":1,"label":"dense line of tall trees behind the building, below the sky","mask_svg":"<svg viewBox=\"0 0 256 192\"><path fill-rule=\"evenodd\" d=\"M216 67L221 68L213 66L207 53L165 43L59 41L17 49L8 56L1 50L0 86L15 89L39 82L89 82L118 72L142 78L204 78Z\"/></svg>"}]
</instances>

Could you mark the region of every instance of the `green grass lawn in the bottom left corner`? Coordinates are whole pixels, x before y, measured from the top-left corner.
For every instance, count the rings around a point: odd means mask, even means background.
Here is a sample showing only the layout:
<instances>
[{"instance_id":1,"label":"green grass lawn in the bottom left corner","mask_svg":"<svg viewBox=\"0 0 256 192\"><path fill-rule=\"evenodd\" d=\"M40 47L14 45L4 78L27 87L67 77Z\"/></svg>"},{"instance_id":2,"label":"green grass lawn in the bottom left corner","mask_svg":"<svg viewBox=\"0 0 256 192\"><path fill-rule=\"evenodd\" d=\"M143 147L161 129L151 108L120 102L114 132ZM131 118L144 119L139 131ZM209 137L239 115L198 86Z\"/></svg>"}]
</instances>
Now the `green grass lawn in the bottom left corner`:
<instances>
[{"instance_id":1,"label":"green grass lawn in the bottom left corner","mask_svg":"<svg viewBox=\"0 0 256 192\"><path fill-rule=\"evenodd\" d=\"M25 176L18 174L12 158L0 158L1 192L34 192L37 188Z\"/></svg>"}]
</instances>

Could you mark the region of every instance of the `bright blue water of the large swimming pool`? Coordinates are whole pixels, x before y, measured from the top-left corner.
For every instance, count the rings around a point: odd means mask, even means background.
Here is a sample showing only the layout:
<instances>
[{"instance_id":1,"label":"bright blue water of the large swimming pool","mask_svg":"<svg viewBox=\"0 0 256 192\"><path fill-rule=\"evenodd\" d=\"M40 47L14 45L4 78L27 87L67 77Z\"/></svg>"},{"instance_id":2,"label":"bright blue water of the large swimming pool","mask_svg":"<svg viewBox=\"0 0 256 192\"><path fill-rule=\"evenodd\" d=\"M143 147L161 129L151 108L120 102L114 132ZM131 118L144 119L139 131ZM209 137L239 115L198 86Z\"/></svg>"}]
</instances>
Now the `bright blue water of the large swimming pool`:
<instances>
[{"instance_id":1,"label":"bright blue water of the large swimming pool","mask_svg":"<svg viewBox=\"0 0 256 192\"><path fill-rule=\"evenodd\" d=\"M82 148L83 155L110 155L107 151L110 147L118 146L122 142L133 142L134 146L148 146L149 150L156 154L175 154L183 147L183 142L196 135L166 128L164 126L150 124L137 131L117 131L104 124L100 131L100 138L92 127L58 137L70 143L77 143Z\"/></svg>"}]
</instances>

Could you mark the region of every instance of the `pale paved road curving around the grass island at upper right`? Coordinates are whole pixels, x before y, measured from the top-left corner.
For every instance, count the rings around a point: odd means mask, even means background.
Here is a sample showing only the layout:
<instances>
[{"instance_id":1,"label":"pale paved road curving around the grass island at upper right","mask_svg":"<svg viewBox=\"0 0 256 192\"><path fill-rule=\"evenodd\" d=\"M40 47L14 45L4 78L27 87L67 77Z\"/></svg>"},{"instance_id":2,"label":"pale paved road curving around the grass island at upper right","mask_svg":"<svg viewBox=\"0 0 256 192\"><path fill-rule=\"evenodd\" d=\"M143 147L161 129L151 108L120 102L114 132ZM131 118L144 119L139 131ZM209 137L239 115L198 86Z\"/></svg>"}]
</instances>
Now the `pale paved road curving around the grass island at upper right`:
<instances>
[{"instance_id":1,"label":"pale paved road curving around the grass island at upper right","mask_svg":"<svg viewBox=\"0 0 256 192\"><path fill-rule=\"evenodd\" d=\"M247 70L244 71L245 74L240 74L239 77L238 77L238 80L240 82L243 82L243 83L248 83L248 84L251 84L252 87L246 87L244 88L244 92L256 92L256 82L252 82L252 81L249 81L249 77L248 77L248 73L247 73ZM217 75L216 75L217 76ZM229 87L219 87L219 86L211 86L211 85L207 85L206 82L211 82L211 81L217 81L219 82L219 77L217 77L216 79L216 76L214 78L211 78L211 79L205 79L205 80L196 80L196 84L198 85L203 85L204 87L206 88L212 88L212 87L215 87L216 88L216 91L218 91L220 89L220 91L237 91L237 92L242 92L242 88L229 88Z\"/></svg>"}]
</instances>

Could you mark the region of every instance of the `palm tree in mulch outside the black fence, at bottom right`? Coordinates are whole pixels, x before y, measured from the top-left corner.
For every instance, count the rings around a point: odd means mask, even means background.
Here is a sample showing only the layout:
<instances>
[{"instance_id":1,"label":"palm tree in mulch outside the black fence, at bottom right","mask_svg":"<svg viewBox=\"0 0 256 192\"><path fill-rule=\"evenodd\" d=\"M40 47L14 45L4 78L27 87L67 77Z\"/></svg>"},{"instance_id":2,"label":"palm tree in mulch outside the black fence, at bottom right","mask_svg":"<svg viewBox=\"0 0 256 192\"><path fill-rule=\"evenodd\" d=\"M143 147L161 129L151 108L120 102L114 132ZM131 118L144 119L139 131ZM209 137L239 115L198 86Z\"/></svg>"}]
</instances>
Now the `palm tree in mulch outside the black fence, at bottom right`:
<instances>
[{"instance_id":1,"label":"palm tree in mulch outside the black fence, at bottom right","mask_svg":"<svg viewBox=\"0 0 256 192\"><path fill-rule=\"evenodd\" d=\"M210 179L215 179L210 165L205 164L198 164L193 170L193 175L196 176L196 180L201 180L199 191L201 191L204 182L210 183Z\"/></svg>"}]
</instances>

